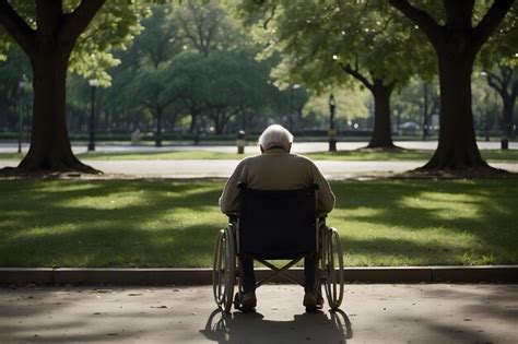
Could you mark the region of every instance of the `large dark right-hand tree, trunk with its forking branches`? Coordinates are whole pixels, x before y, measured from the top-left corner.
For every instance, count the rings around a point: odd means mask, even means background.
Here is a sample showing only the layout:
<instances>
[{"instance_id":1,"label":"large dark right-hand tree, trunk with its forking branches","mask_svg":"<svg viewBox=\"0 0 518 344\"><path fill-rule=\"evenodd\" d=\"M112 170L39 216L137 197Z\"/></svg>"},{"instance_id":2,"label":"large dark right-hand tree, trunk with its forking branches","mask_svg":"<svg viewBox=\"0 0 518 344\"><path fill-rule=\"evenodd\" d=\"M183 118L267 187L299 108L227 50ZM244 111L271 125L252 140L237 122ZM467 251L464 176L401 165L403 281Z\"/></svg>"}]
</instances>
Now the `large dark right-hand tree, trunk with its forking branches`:
<instances>
[{"instance_id":1,"label":"large dark right-hand tree, trunk with its forking branches","mask_svg":"<svg viewBox=\"0 0 518 344\"><path fill-rule=\"evenodd\" d=\"M443 1L417 8L408 0L389 2L422 29L435 49L440 84L440 130L437 150L423 166L428 169L485 169L473 130L471 73L476 54L509 11L514 0L494 0L473 26L474 0ZM442 24L444 23L444 24Z\"/></svg>"}]
</instances>

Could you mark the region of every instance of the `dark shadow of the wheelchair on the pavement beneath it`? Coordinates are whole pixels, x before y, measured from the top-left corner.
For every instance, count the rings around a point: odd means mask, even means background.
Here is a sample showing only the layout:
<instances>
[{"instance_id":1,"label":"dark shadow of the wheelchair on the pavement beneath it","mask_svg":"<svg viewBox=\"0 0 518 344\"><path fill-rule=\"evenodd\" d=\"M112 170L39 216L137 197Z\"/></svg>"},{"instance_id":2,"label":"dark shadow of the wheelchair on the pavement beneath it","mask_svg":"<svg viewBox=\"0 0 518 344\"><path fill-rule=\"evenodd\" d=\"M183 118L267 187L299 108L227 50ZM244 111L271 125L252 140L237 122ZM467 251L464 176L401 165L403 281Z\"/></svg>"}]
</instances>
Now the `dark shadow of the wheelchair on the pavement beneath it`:
<instances>
[{"instance_id":1,"label":"dark shadow of the wheelchair on the pavement beneath it","mask_svg":"<svg viewBox=\"0 0 518 344\"><path fill-rule=\"evenodd\" d=\"M200 332L217 343L345 343L353 337L342 310L295 315L291 321L266 320L255 313L214 310Z\"/></svg>"}]
</instances>

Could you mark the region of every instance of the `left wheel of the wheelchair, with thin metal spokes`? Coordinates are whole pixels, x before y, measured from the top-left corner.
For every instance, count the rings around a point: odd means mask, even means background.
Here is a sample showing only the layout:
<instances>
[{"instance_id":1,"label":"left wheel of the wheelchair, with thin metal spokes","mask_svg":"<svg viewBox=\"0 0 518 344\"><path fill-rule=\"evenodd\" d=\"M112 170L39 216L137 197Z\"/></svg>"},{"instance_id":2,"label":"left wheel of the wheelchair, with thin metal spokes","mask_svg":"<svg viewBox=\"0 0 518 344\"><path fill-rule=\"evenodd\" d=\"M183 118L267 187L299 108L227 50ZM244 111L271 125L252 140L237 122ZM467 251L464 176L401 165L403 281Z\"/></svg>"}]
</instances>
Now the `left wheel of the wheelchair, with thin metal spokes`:
<instances>
[{"instance_id":1,"label":"left wheel of the wheelchair, with thin metal spokes","mask_svg":"<svg viewBox=\"0 0 518 344\"><path fill-rule=\"evenodd\" d=\"M234 296L236 256L232 226L220 230L214 248L212 288L214 300L221 310L228 312Z\"/></svg>"}]
</instances>

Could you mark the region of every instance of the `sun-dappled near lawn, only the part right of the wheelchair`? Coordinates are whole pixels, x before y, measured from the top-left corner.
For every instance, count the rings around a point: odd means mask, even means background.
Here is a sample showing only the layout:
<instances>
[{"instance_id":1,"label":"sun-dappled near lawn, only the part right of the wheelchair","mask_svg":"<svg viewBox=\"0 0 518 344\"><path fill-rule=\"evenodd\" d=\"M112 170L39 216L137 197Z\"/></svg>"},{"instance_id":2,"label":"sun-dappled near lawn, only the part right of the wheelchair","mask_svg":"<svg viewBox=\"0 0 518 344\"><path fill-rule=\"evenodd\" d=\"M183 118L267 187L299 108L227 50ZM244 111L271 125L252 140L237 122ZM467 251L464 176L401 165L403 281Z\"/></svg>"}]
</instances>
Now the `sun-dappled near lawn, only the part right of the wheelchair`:
<instances>
[{"instance_id":1,"label":"sun-dappled near lawn, only the part right of the wheelchair","mask_svg":"<svg viewBox=\"0 0 518 344\"><path fill-rule=\"evenodd\" d=\"M333 183L351 265L518 261L518 187L513 181ZM368 211L365 211L368 209ZM516 213L515 213L516 214Z\"/></svg>"}]
</instances>

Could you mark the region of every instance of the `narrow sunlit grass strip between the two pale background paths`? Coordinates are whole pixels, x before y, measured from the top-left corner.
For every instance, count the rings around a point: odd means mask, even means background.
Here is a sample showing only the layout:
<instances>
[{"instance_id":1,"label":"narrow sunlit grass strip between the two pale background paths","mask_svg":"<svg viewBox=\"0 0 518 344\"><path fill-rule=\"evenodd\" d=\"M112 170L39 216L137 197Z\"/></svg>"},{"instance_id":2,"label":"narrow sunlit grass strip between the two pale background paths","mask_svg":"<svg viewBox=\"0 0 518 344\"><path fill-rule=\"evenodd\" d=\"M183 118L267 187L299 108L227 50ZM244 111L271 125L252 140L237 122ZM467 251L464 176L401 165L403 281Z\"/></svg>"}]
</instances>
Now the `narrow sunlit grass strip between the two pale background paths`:
<instances>
[{"instance_id":1,"label":"narrow sunlit grass strip between the two pale background paths","mask_svg":"<svg viewBox=\"0 0 518 344\"><path fill-rule=\"evenodd\" d=\"M240 159L248 155L258 154L257 147L247 147L246 154L222 153L209 151L177 151L164 153L102 153L86 152L78 154L81 159L95 161L138 161L138 159ZM428 161L433 151L339 151L308 153L306 156L315 161ZM482 157L488 162L518 162L518 150L484 150ZM22 154L0 153L0 159L21 159Z\"/></svg>"}]
</instances>

